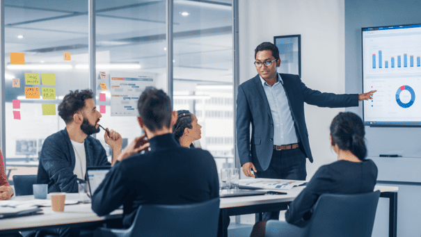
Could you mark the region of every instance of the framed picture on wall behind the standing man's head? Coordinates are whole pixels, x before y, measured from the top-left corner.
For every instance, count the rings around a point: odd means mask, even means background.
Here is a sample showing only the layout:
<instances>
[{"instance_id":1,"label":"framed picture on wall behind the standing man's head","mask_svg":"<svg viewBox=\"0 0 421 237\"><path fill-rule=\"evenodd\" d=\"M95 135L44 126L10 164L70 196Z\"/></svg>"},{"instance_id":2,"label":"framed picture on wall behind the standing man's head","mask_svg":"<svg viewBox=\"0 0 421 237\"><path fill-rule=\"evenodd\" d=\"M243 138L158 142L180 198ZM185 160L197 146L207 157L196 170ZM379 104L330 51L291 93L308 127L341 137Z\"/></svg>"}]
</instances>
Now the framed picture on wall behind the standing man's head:
<instances>
[{"instance_id":1,"label":"framed picture on wall behind the standing man's head","mask_svg":"<svg viewBox=\"0 0 421 237\"><path fill-rule=\"evenodd\" d=\"M282 35L273 37L278 47L279 73L296 74L301 78L301 35Z\"/></svg>"}]
</instances>

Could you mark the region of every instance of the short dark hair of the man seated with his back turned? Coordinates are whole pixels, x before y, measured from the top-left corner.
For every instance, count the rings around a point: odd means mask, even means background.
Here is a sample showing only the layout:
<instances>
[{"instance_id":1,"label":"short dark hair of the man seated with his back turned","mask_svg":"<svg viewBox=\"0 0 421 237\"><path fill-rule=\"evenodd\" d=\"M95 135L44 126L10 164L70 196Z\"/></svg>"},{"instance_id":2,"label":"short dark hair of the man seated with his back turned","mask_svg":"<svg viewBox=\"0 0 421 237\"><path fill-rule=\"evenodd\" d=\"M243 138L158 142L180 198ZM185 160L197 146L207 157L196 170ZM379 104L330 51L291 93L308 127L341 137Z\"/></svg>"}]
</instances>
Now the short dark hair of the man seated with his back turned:
<instances>
[{"instance_id":1,"label":"short dark hair of the man seated with his back turned","mask_svg":"<svg viewBox=\"0 0 421 237\"><path fill-rule=\"evenodd\" d=\"M150 131L162 129L163 126L170 128L173 105L164 90L152 86L146 88L139 97L137 108L143 124Z\"/></svg>"}]
</instances>

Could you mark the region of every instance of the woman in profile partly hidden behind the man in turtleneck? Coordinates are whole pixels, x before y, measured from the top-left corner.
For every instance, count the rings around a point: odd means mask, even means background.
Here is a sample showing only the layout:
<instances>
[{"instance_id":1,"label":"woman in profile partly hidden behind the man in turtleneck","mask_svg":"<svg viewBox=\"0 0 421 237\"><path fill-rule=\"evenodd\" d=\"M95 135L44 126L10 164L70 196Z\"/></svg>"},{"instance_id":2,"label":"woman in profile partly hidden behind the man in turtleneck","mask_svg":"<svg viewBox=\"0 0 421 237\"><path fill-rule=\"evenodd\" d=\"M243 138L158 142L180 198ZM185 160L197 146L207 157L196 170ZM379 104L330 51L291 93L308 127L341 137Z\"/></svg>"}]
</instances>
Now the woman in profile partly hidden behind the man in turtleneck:
<instances>
[{"instance_id":1,"label":"woman in profile partly hidden behind the man in turtleneck","mask_svg":"<svg viewBox=\"0 0 421 237\"><path fill-rule=\"evenodd\" d=\"M198 118L190 111L177 111L177 122L173 126L175 140L182 147L194 148L193 141L202 138L202 126L198 124Z\"/></svg>"}]
</instances>

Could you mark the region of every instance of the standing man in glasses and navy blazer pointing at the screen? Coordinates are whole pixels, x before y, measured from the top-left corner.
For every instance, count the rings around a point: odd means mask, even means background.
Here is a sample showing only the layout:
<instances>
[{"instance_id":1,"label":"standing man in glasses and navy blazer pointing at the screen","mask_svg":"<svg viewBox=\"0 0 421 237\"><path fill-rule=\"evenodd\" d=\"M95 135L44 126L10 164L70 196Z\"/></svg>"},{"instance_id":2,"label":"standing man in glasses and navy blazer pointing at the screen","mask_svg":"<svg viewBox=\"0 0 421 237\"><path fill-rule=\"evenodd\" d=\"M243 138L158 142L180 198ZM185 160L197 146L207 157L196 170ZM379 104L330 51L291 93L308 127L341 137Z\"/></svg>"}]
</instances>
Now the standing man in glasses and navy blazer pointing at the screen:
<instances>
[{"instance_id":1,"label":"standing man in glasses and navy blazer pointing at the screen","mask_svg":"<svg viewBox=\"0 0 421 237\"><path fill-rule=\"evenodd\" d=\"M298 75L278 74L279 51L271 42L256 47L254 64L258 75L239 85L237 95L237 147L243 172L248 177L305 180L305 158L313 158L304 102L330 108L358 106L376 91L335 95L311 90ZM278 218L279 212L263 216Z\"/></svg>"}]
</instances>

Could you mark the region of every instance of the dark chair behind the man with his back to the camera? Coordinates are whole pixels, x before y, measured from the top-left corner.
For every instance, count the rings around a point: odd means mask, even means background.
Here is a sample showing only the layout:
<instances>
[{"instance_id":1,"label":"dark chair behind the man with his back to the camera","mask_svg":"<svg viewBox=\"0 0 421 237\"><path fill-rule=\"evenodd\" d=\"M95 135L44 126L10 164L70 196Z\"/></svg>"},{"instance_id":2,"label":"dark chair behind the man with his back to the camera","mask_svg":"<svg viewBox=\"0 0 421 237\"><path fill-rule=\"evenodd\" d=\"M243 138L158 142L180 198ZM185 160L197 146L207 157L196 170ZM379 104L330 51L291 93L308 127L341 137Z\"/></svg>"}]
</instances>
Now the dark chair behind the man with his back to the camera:
<instances>
[{"instance_id":1,"label":"dark chair behind the man with his back to the camera","mask_svg":"<svg viewBox=\"0 0 421 237\"><path fill-rule=\"evenodd\" d=\"M218 220L219 198L198 204L144 205L129 229L98 228L94 237L215 237Z\"/></svg>"}]
</instances>

